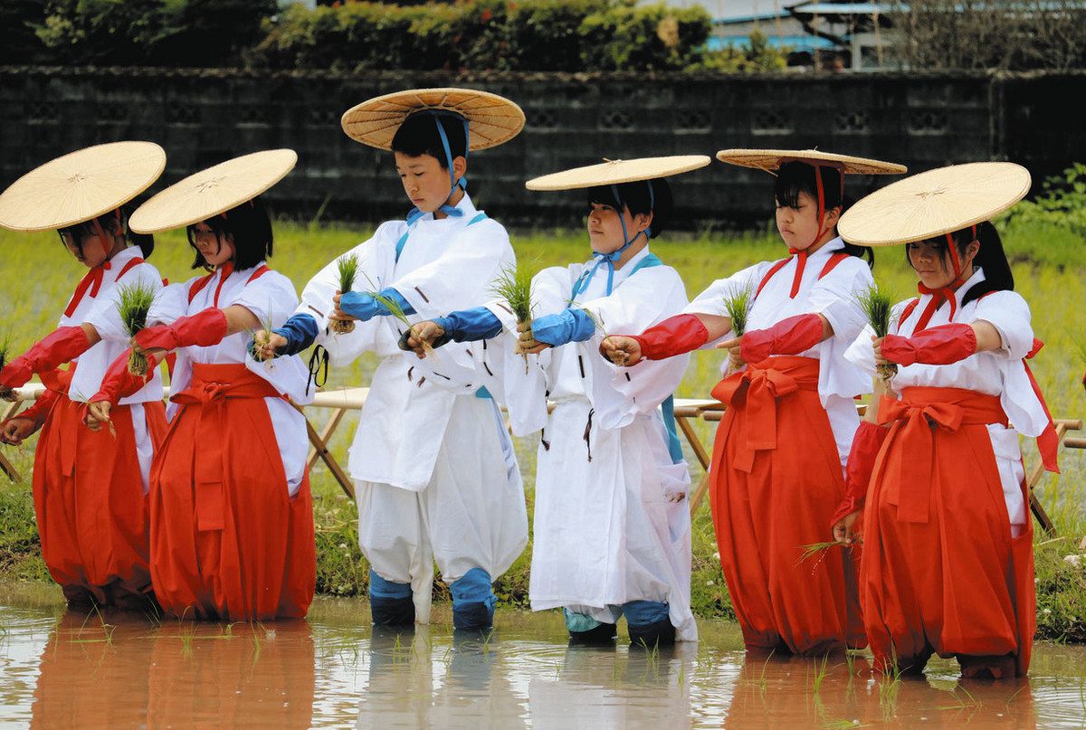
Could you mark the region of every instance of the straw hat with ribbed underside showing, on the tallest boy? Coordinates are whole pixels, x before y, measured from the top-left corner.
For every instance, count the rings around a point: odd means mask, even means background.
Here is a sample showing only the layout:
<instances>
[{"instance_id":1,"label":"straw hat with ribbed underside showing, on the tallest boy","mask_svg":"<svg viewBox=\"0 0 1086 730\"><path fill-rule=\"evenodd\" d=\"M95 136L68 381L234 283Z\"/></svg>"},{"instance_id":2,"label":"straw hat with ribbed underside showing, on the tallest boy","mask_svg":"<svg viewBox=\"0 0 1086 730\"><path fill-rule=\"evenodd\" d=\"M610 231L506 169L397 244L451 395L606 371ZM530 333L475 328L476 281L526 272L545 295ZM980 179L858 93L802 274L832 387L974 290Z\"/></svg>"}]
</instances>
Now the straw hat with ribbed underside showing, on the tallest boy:
<instances>
[{"instance_id":1,"label":"straw hat with ribbed underside showing, on the tallest boy","mask_svg":"<svg viewBox=\"0 0 1086 730\"><path fill-rule=\"evenodd\" d=\"M507 142L525 128L525 113L505 97L476 89L408 89L374 97L343 112L351 139L381 150L408 116L426 109L454 112L468 121L468 149L485 150Z\"/></svg>"}]
</instances>

